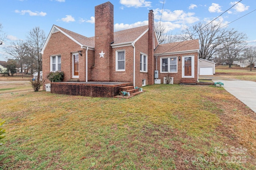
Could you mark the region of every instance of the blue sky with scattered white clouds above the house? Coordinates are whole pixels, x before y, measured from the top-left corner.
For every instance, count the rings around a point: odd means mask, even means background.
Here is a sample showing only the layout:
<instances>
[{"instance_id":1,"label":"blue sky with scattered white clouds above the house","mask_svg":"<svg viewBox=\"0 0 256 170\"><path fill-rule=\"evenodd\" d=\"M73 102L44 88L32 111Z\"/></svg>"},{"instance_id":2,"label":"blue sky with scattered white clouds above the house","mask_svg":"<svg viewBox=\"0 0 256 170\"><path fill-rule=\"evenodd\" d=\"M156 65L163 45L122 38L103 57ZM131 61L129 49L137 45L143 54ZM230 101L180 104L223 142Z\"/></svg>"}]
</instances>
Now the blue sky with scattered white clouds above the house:
<instances>
[{"instance_id":1,"label":"blue sky with scattered white clouds above the house","mask_svg":"<svg viewBox=\"0 0 256 170\"><path fill-rule=\"evenodd\" d=\"M0 61L6 61L3 47L11 41L25 40L33 27L46 33L52 25L58 25L86 37L94 36L94 7L107 0L0 0L0 23L7 39L0 45ZM114 5L114 29L120 31L148 24L148 11L153 10L155 22L162 20L172 33L198 22L208 23L228 10L237 0L110 0ZM164 7L163 7L164 2ZM163 7L163 10L162 10ZM256 10L256 0L242 0L225 12L218 20L226 25ZM248 41L256 45L256 11L230 23L248 35Z\"/></svg>"}]
</instances>

